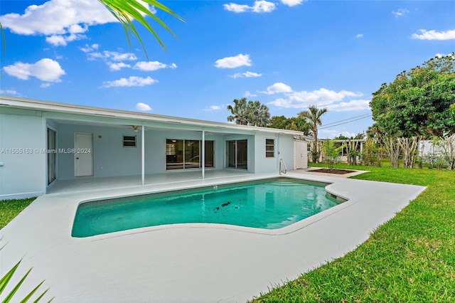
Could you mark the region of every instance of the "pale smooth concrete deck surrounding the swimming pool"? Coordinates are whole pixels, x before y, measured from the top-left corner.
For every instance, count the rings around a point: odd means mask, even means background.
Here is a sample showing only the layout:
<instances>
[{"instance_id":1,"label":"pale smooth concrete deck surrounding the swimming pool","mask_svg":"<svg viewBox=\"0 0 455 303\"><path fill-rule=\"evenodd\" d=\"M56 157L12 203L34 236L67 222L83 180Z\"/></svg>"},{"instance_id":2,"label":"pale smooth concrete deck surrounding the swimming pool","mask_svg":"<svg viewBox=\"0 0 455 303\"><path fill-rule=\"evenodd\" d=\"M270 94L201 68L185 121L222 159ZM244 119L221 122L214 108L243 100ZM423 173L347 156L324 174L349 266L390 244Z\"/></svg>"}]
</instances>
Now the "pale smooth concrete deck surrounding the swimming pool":
<instances>
[{"instance_id":1,"label":"pale smooth concrete deck surrounding the swimming pool","mask_svg":"<svg viewBox=\"0 0 455 303\"><path fill-rule=\"evenodd\" d=\"M187 224L70 235L80 201L270 176L214 173L201 180L188 174L146 186L118 179L55 184L0 230L7 243L0 274L23 257L18 276L33 270L21 289L45 280L45 298L55 296L54 302L246 302L354 250L424 190L289 171L288 177L331 183L327 190L349 201L279 230Z\"/></svg>"}]
</instances>

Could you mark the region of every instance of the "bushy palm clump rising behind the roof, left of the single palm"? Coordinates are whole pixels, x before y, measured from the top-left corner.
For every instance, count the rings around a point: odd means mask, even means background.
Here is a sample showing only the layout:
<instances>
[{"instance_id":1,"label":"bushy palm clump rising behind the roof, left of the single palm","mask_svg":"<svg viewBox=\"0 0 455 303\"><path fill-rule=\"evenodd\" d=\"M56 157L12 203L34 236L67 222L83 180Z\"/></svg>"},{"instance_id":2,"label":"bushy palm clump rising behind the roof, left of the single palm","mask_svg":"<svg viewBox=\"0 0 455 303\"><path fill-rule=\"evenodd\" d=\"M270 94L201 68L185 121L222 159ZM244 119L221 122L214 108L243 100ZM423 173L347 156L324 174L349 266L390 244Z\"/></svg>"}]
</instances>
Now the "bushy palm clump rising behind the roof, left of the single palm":
<instances>
[{"instance_id":1,"label":"bushy palm clump rising behind the roof, left of the single palm","mask_svg":"<svg viewBox=\"0 0 455 303\"><path fill-rule=\"evenodd\" d=\"M234 106L228 105L231 116L228 121L235 124L267 127L270 122L269 107L259 101L247 101L247 98L234 99Z\"/></svg>"}]
</instances>

